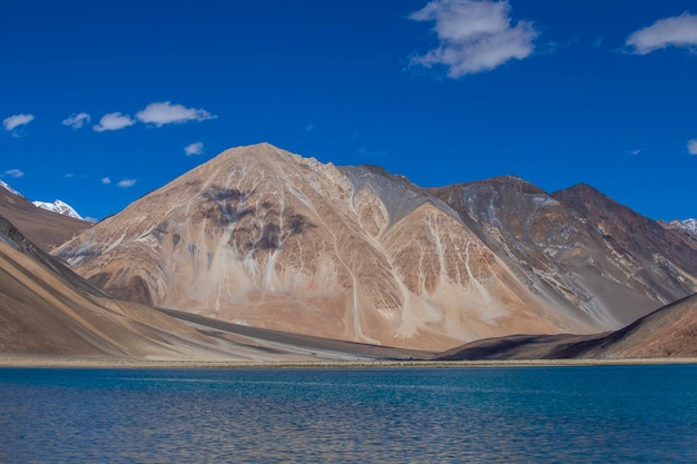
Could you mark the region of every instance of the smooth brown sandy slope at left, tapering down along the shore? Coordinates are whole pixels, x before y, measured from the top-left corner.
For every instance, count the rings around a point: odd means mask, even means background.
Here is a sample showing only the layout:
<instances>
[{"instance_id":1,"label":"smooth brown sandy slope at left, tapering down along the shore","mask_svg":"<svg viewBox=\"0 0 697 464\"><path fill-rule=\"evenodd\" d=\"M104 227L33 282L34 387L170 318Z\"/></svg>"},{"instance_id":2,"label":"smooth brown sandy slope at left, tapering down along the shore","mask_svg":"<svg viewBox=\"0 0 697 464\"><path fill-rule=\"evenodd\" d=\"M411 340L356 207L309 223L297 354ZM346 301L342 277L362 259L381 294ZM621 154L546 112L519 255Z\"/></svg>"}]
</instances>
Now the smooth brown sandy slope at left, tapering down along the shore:
<instances>
[{"instance_id":1,"label":"smooth brown sandy slope at left, tapering down along the shore","mask_svg":"<svg viewBox=\"0 0 697 464\"><path fill-rule=\"evenodd\" d=\"M0 217L0 356L298 362L430 355L179 316L110 297Z\"/></svg>"}]
</instances>

